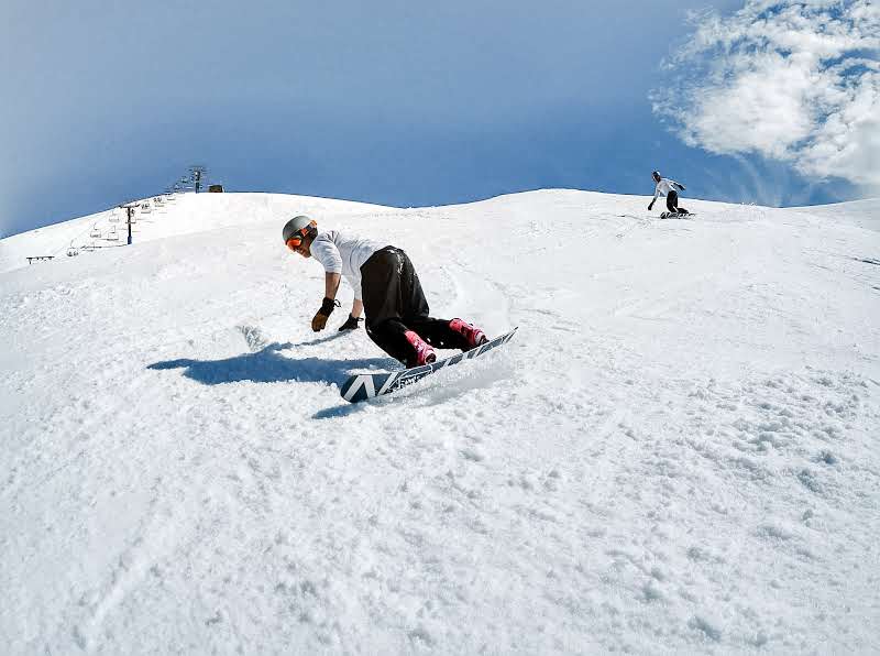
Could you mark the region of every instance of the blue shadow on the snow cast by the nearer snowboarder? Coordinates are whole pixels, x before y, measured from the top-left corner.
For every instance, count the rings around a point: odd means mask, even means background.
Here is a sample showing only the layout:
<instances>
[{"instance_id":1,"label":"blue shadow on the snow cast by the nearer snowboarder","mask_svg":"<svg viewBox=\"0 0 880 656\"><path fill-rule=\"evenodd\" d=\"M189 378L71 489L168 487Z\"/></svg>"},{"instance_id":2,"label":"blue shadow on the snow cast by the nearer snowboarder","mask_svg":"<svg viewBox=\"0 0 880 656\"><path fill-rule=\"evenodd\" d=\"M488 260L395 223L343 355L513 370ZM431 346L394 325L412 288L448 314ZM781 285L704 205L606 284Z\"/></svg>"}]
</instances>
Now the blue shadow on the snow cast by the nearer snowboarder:
<instances>
[{"instance_id":1,"label":"blue shadow on the snow cast by the nearer snowboarder","mask_svg":"<svg viewBox=\"0 0 880 656\"><path fill-rule=\"evenodd\" d=\"M278 351L295 348L293 343L271 343L256 352L243 353L224 360L167 360L155 362L147 369L185 369L184 375L205 385L220 385L250 381L254 383L336 383L341 385L354 370L392 369L399 367L391 358L363 358L360 360L327 360L302 358L292 360Z\"/></svg>"}]
</instances>

